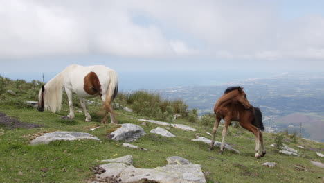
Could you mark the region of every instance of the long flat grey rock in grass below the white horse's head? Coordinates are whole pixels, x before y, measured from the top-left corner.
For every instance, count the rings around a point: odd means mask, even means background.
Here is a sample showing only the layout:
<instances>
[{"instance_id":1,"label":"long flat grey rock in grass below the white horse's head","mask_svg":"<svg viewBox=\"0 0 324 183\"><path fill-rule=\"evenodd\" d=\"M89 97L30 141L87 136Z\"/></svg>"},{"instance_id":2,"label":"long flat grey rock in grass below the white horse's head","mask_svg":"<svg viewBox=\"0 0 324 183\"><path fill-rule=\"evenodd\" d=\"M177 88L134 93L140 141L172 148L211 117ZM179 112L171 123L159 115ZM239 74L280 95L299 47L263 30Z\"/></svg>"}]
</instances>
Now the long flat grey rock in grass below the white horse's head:
<instances>
[{"instance_id":1,"label":"long flat grey rock in grass below the white horse's head","mask_svg":"<svg viewBox=\"0 0 324 183\"><path fill-rule=\"evenodd\" d=\"M65 140L65 141L74 141L77 139L93 139L100 141L98 137L94 137L92 134L89 133L82 133L82 132L51 132L46 133L42 136L36 137L32 141L30 141L30 144L48 144L51 141L57 141L57 140Z\"/></svg>"}]
</instances>

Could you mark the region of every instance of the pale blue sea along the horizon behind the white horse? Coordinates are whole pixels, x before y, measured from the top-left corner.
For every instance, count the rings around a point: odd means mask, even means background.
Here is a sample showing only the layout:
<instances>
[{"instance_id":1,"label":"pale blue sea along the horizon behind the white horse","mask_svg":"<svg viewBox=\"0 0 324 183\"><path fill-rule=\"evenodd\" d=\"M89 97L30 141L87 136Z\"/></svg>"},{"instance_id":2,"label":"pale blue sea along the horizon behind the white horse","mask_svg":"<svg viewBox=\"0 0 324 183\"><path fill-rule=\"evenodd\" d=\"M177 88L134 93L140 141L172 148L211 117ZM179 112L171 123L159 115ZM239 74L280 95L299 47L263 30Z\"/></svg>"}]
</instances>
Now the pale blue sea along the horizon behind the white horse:
<instances>
[{"instance_id":1,"label":"pale blue sea along the horizon behind the white horse","mask_svg":"<svg viewBox=\"0 0 324 183\"><path fill-rule=\"evenodd\" d=\"M57 73L44 73L44 82L51 80ZM168 87L210 86L222 85L228 82L246 80L249 78L267 78L278 73L260 72L224 72L224 71L141 71L118 72L120 91L136 89L165 89ZM1 76L26 81L41 80L42 72L34 73L0 73Z\"/></svg>"}]
</instances>

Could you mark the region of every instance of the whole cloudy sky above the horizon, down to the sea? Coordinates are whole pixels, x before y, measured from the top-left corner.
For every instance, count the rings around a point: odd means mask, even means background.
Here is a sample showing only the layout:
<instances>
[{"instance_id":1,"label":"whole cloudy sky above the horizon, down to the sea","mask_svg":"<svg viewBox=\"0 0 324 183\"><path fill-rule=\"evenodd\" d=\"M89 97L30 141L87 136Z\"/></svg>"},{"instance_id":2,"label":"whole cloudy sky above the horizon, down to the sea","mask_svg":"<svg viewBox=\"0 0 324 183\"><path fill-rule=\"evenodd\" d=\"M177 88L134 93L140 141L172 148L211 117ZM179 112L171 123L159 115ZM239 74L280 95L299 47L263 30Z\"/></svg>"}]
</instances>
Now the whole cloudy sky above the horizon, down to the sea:
<instances>
[{"instance_id":1,"label":"whole cloudy sky above the horizon, down to the sea","mask_svg":"<svg viewBox=\"0 0 324 183\"><path fill-rule=\"evenodd\" d=\"M188 76L321 72L323 7L316 0L0 0L0 75L58 73L69 64Z\"/></svg>"}]
</instances>

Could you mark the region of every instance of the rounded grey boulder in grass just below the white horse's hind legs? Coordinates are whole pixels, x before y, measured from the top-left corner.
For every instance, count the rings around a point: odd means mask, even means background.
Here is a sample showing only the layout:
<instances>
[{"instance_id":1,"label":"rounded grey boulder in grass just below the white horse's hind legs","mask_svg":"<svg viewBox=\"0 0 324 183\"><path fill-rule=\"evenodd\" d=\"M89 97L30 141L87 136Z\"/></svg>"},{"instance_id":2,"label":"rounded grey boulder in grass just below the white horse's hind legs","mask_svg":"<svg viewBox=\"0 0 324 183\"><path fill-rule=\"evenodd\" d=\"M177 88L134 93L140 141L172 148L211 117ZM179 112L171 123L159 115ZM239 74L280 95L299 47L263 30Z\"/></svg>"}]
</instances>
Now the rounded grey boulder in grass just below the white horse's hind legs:
<instances>
[{"instance_id":1,"label":"rounded grey boulder in grass just below the white horse's hind legs","mask_svg":"<svg viewBox=\"0 0 324 183\"><path fill-rule=\"evenodd\" d=\"M136 141L145 135L144 129L139 125L131 123L121 124L120 128L117 128L114 132L111 132L108 137L114 141L131 142Z\"/></svg>"}]
</instances>

